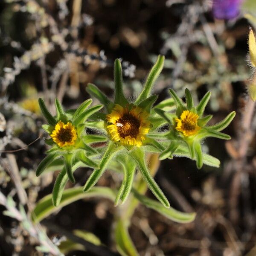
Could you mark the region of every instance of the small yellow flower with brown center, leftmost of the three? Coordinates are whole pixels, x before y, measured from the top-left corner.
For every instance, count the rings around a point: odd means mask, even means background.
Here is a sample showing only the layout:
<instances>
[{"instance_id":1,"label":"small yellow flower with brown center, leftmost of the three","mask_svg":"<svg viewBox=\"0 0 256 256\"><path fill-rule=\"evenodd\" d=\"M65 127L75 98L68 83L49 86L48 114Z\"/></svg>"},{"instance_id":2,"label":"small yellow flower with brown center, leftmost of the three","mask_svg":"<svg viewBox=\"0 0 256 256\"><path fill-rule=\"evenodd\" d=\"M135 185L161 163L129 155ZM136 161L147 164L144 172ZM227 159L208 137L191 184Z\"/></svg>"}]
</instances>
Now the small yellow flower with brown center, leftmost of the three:
<instances>
[{"instance_id":1,"label":"small yellow flower with brown center, leftmost of the three","mask_svg":"<svg viewBox=\"0 0 256 256\"><path fill-rule=\"evenodd\" d=\"M74 145L77 139L76 128L71 122L64 124L64 122L58 121L51 137L59 147Z\"/></svg>"}]
</instances>

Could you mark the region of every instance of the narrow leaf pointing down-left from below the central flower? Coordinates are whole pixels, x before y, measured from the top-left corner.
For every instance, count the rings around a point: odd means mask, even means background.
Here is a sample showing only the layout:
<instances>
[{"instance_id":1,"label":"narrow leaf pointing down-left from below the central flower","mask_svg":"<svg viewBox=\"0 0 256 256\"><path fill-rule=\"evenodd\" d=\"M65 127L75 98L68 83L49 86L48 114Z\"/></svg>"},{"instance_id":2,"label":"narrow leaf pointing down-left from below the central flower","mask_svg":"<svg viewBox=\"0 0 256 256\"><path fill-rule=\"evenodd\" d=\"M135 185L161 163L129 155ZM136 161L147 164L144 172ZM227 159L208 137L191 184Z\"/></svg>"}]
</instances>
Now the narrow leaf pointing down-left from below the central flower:
<instances>
[{"instance_id":1,"label":"narrow leaf pointing down-left from below the central flower","mask_svg":"<svg viewBox=\"0 0 256 256\"><path fill-rule=\"evenodd\" d=\"M90 175L90 177L84 185L84 191L88 191L97 183L99 178L105 172L108 162L114 157L118 150L120 150L120 147L117 148L114 143L108 144L108 148L105 151L105 154L103 155L102 160L99 163L99 169L95 169L93 173Z\"/></svg>"}]
</instances>

